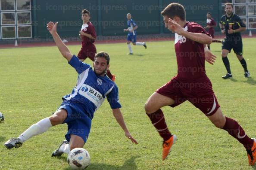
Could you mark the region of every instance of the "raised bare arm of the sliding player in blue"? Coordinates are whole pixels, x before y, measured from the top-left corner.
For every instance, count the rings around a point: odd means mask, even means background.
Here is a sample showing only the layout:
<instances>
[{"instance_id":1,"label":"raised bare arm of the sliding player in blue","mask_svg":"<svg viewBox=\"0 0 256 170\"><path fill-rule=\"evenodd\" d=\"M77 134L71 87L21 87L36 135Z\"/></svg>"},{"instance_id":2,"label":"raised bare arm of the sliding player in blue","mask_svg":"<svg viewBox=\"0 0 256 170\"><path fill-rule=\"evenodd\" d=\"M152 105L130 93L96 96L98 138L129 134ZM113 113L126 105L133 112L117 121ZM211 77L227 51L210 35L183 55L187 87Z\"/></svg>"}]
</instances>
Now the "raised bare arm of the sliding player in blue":
<instances>
[{"instance_id":1,"label":"raised bare arm of the sliding player in blue","mask_svg":"<svg viewBox=\"0 0 256 170\"><path fill-rule=\"evenodd\" d=\"M67 59L67 61L70 61L73 55L69 51L68 47L60 39L59 34L57 33L57 25L58 22L56 22L55 24L53 22L48 22L47 29L49 30L50 34L52 34L56 46L59 49L59 52L64 58Z\"/></svg>"}]
</instances>

